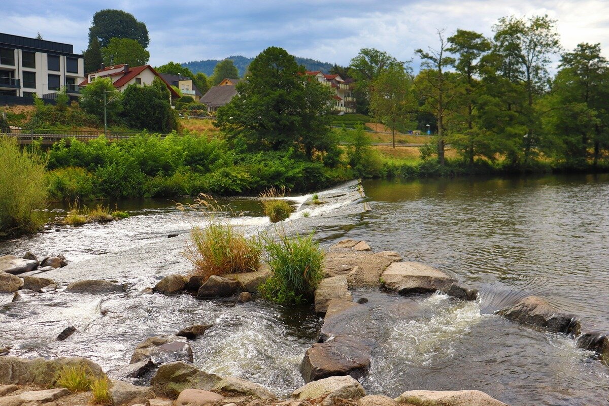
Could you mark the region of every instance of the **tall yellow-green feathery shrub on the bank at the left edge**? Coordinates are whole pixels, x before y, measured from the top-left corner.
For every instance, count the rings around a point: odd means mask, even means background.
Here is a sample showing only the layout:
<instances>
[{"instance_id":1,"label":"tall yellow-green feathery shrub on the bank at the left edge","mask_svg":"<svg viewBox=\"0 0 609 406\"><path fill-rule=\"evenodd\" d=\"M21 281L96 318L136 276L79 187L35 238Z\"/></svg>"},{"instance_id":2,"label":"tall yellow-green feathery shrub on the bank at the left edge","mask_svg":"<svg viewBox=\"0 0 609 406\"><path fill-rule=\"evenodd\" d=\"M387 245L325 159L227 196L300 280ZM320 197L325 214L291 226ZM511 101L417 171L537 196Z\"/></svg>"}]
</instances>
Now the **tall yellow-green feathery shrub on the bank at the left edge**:
<instances>
[{"instance_id":1,"label":"tall yellow-green feathery shrub on the bank at the left edge","mask_svg":"<svg viewBox=\"0 0 609 406\"><path fill-rule=\"evenodd\" d=\"M46 161L0 136L0 236L31 233L41 224L32 212L46 205Z\"/></svg>"}]
</instances>

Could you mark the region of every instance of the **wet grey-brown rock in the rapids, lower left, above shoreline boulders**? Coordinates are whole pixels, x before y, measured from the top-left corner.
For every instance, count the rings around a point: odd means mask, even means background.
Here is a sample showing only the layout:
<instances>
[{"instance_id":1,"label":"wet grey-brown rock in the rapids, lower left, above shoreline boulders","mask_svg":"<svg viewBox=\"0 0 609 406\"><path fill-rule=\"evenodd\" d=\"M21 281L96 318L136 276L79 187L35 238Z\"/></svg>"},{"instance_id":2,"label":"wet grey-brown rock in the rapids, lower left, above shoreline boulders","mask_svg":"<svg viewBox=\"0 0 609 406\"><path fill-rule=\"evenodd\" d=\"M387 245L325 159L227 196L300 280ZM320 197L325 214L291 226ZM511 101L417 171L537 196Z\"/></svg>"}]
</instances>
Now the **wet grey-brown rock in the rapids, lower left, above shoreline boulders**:
<instances>
[{"instance_id":1,"label":"wet grey-brown rock in the rapids, lower left, above shoreline boulders","mask_svg":"<svg viewBox=\"0 0 609 406\"><path fill-rule=\"evenodd\" d=\"M186 338L176 336L150 337L139 343L129 363L151 360L155 365L167 362L192 362L192 349Z\"/></svg>"}]
</instances>

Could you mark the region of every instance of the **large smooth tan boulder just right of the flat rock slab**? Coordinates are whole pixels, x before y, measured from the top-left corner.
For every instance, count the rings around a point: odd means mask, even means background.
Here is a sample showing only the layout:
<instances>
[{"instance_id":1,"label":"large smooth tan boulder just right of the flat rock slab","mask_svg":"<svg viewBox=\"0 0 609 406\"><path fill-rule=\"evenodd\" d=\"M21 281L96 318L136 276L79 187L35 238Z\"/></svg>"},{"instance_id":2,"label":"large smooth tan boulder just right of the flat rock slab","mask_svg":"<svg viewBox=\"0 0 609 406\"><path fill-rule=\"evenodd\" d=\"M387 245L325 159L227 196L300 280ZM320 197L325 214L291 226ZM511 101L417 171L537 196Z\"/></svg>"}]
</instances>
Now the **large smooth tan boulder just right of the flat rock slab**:
<instances>
[{"instance_id":1,"label":"large smooth tan boulder just right of the flat rock slab","mask_svg":"<svg viewBox=\"0 0 609 406\"><path fill-rule=\"evenodd\" d=\"M409 295L435 292L456 280L421 262L393 262L381 274L381 282L387 290Z\"/></svg>"}]
</instances>

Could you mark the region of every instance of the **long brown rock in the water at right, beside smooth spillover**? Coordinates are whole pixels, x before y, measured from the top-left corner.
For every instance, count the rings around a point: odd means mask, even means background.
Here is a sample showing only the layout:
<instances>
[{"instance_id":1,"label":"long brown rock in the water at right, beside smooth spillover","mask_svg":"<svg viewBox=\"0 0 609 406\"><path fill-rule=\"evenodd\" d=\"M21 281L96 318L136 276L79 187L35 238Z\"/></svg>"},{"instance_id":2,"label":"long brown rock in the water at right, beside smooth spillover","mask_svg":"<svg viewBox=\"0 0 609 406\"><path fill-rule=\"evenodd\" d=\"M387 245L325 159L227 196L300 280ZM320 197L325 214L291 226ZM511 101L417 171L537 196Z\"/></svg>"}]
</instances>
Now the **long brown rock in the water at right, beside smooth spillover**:
<instances>
[{"instance_id":1,"label":"long brown rock in the water at right, beside smooth spillover","mask_svg":"<svg viewBox=\"0 0 609 406\"><path fill-rule=\"evenodd\" d=\"M576 316L558 310L539 296L528 296L497 313L517 323L541 327L556 333L570 333L579 329Z\"/></svg>"}]
</instances>

